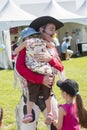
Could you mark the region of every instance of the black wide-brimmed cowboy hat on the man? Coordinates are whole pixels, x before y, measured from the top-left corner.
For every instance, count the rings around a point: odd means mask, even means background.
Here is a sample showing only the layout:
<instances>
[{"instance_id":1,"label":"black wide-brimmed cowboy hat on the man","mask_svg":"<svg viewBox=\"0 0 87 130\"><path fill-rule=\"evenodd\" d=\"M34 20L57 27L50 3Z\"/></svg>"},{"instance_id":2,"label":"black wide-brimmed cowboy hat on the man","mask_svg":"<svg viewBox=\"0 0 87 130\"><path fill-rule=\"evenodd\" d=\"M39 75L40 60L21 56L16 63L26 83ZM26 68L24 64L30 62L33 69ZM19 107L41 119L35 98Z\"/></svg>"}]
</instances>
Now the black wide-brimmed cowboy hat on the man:
<instances>
[{"instance_id":1,"label":"black wide-brimmed cowboy hat on the man","mask_svg":"<svg viewBox=\"0 0 87 130\"><path fill-rule=\"evenodd\" d=\"M64 26L64 24L62 22L60 22L59 20L57 20L51 16L42 16L42 17L39 17L39 18L35 19L34 21L32 21L29 27L32 27L36 31L39 31L40 27L42 27L48 23L53 23L56 26L56 30L61 28L62 26Z\"/></svg>"}]
</instances>

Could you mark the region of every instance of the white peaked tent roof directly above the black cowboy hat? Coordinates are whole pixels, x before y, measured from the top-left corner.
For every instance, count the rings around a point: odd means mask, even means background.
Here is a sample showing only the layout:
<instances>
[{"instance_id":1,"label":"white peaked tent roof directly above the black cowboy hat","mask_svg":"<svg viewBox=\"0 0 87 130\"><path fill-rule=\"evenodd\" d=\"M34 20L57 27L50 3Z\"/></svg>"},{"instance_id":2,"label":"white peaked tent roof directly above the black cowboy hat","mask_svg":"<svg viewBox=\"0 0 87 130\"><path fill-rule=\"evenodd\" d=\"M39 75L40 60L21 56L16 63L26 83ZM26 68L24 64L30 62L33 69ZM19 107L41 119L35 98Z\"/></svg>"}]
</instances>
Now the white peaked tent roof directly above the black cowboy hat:
<instances>
[{"instance_id":1,"label":"white peaked tent roof directly above the black cowboy hat","mask_svg":"<svg viewBox=\"0 0 87 130\"><path fill-rule=\"evenodd\" d=\"M76 22L84 24L85 18L65 10L55 0L51 0L46 8L38 16L50 15L62 22Z\"/></svg>"}]
</instances>

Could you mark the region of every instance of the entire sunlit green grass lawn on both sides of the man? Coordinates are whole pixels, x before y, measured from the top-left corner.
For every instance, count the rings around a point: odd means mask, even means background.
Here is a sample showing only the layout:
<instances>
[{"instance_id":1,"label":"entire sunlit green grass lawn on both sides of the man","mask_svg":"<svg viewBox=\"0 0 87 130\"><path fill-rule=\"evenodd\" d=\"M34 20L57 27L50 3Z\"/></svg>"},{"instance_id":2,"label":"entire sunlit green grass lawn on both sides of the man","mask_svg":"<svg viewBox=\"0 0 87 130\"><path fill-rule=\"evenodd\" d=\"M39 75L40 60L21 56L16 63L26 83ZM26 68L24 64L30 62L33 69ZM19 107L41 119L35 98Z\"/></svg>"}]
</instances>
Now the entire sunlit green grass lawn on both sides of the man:
<instances>
[{"instance_id":1,"label":"entire sunlit green grass lawn on both sides of the man","mask_svg":"<svg viewBox=\"0 0 87 130\"><path fill-rule=\"evenodd\" d=\"M87 56L72 58L69 61L62 61L67 78L76 80L79 83L80 94L87 108ZM56 80L58 77L56 77ZM14 88L13 70L0 70L0 106L4 109L3 126L1 130L16 130L15 107L20 100L21 91ZM59 103L63 102L60 90L53 88ZM43 123L44 117L41 114L38 130L47 130ZM42 128L41 128L42 126Z\"/></svg>"}]
</instances>

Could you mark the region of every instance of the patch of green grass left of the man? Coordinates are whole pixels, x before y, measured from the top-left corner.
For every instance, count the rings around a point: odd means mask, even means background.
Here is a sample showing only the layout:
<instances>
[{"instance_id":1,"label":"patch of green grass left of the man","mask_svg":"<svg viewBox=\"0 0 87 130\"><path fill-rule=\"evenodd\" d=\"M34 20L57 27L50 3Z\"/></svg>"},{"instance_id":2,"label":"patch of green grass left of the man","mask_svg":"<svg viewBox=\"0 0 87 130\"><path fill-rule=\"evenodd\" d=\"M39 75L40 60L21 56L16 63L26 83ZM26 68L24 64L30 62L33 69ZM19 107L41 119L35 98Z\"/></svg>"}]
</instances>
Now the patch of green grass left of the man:
<instances>
[{"instance_id":1,"label":"patch of green grass left of the man","mask_svg":"<svg viewBox=\"0 0 87 130\"><path fill-rule=\"evenodd\" d=\"M0 106L4 109L2 130L15 130L15 106L21 92L14 89L13 71L0 70Z\"/></svg>"}]
</instances>

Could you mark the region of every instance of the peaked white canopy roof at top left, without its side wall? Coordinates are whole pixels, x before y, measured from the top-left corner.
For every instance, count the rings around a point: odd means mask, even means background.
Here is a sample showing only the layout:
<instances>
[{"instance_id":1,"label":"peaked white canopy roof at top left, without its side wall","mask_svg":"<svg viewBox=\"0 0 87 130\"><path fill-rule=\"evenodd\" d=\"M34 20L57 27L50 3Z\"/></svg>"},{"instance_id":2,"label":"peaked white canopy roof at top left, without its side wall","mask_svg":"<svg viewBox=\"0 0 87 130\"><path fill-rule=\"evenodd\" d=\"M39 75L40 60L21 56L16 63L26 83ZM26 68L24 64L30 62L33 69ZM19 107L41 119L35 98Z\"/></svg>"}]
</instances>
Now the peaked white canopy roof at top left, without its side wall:
<instances>
[{"instance_id":1,"label":"peaked white canopy roof at top left, without its side wall","mask_svg":"<svg viewBox=\"0 0 87 130\"><path fill-rule=\"evenodd\" d=\"M29 25L36 17L18 8L9 0L0 11L0 30Z\"/></svg>"}]
</instances>

